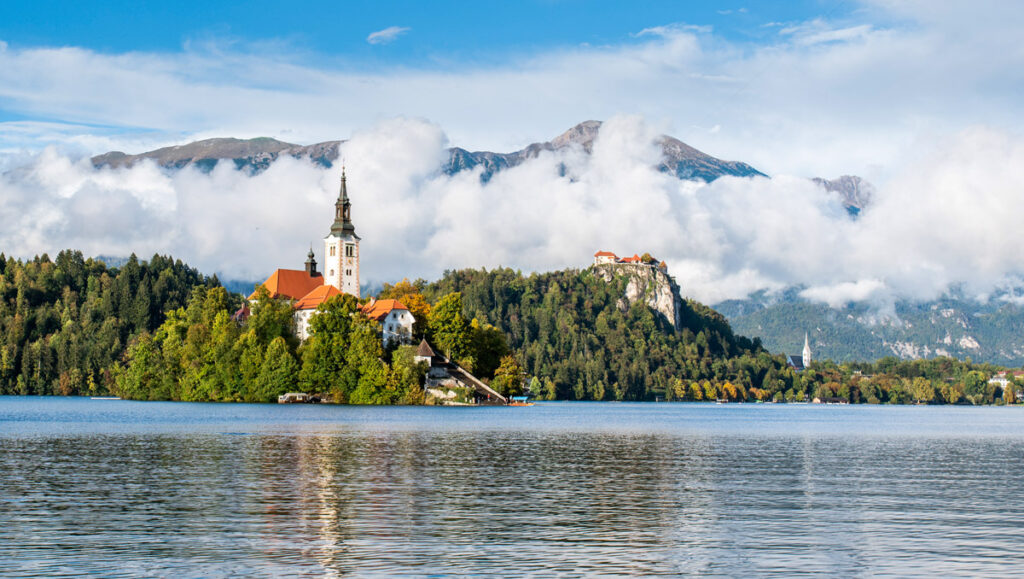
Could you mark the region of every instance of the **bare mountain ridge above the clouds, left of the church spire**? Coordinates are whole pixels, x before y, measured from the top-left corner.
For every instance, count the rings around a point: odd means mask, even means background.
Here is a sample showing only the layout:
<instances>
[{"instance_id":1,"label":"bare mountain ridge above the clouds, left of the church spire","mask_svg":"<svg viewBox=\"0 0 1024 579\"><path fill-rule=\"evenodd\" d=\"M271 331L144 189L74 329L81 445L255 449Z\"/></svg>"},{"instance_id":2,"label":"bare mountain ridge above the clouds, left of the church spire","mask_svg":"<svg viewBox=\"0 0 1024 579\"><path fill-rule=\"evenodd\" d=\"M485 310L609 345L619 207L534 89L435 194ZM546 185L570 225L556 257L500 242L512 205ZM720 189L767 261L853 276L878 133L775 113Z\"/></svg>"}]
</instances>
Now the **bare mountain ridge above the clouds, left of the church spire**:
<instances>
[{"instance_id":1,"label":"bare mountain ridge above the clouds, left of the church spire","mask_svg":"<svg viewBox=\"0 0 1024 579\"><path fill-rule=\"evenodd\" d=\"M218 161L231 160L239 169L258 172L270 166L279 157L306 158L323 167L331 167L338 159L340 140L329 140L303 147L274 138L208 138L187 144L165 147L156 151L128 155L113 151L92 158L96 167L131 167L144 159L156 161L161 167L181 169L189 165L204 171L213 169Z\"/></svg>"}]
</instances>

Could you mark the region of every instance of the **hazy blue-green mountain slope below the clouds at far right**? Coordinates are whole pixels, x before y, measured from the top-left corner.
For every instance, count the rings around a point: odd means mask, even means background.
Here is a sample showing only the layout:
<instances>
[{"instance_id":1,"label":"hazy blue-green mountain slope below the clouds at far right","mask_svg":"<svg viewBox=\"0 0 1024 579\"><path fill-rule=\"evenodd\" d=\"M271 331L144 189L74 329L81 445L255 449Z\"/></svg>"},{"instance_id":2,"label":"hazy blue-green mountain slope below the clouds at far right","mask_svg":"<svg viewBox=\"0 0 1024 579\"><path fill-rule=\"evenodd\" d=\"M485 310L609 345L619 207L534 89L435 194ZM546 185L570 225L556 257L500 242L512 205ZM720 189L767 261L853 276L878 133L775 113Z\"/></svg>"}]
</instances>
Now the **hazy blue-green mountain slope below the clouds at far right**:
<instances>
[{"instance_id":1,"label":"hazy blue-green mountain slope below the clouds at far right","mask_svg":"<svg viewBox=\"0 0 1024 579\"><path fill-rule=\"evenodd\" d=\"M815 358L839 362L895 356L950 356L1024 365L1024 307L993 298L981 303L953 292L928 302L898 301L895 315L865 303L831 308L800 297L801 288L715 305L739 334L759 336L771 351L799 354L804 332Z\"/></svg>"}]
</instances>

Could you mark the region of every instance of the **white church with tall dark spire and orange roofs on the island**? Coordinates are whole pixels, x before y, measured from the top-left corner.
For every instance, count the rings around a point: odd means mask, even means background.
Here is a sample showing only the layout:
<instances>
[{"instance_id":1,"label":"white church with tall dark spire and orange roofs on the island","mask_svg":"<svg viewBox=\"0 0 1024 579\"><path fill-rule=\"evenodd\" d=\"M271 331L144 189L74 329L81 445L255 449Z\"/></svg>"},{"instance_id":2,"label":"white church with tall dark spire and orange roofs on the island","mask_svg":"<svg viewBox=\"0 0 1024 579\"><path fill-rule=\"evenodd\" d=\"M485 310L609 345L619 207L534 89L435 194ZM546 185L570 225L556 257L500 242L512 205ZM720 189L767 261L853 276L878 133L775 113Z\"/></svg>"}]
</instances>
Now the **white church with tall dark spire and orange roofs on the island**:
<instances>
[{"instance_id":1,"label":"white church with tall dark spire and orange roofs on the island","mask_svg":"<svg viewBox=\"0 0 1024 579\"><path fill-rule=\"evenodd\" d=\"M359 241L352 223L352 204L348 199L345 169L342 168L341 191L334 203L334 222L324 238L324 272L316 270L316 258L310 248L303 270L275 270L261 284L271 298L293 302L295 334L299 339L309 337L309 320L319 304L345 293L359 297ZM256 292L253 292L249 301L255 299ZM400 301L372 300L361 309L381 324L385 346L393 341L409 341L412 337L416 319ZM247 312L240 311L236 314L237 319L246 317Z\"/></svg>"}]
</instances>

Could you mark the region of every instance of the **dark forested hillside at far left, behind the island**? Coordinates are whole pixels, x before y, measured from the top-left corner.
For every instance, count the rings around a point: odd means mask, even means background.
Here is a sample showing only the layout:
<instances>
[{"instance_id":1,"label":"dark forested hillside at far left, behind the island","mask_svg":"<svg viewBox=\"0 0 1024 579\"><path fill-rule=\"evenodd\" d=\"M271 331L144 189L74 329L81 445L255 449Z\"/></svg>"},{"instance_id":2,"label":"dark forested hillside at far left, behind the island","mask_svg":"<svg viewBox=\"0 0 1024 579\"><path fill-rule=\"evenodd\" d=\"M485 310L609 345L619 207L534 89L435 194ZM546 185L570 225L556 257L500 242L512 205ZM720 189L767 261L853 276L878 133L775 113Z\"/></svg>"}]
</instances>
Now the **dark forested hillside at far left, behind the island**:
<instances>
[{"instance_id":1,"label":"dark forested hillside at far left, behind the island","mask_svg":"<svg viewBox=\"0 0 1024 579\"><path fill-rule=\"evenodd\" d=\"M0 394L99 395L129 341L196 287L217 286L171 257L121 267L61 251L15 260L0 254Z\"/></svg>"}]
</instances>

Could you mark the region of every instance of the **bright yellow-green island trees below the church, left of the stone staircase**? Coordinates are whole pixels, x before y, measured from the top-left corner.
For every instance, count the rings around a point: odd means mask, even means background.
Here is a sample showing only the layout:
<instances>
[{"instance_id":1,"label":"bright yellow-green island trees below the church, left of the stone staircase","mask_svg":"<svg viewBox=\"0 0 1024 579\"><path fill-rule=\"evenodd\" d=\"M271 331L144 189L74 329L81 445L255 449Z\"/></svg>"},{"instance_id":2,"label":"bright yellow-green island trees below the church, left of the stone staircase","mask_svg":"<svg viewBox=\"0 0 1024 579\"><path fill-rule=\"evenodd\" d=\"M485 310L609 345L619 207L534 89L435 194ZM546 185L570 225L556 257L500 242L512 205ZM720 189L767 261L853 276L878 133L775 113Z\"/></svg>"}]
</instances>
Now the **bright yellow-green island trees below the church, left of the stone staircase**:
<instances>
[{"instance_id":1,"label":"bright yellow-green island trees below the church, left of the stone staircase","mask_svg":"<svg viewBox=\"0 0 1024 579\"><path fill-rule=\"evenodd\" d=\"M380 326L340 295L319 305L310 337L291 334L292 306L257 292L244 326L230 320L222 288L198 288L117 369L117 391L141 400L274 402L300 389L351 404L422 403L424 369L399 347L383 357ZM300 362L301 361L301 362Z\"/></svg>"}]
</instances>

